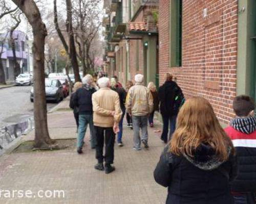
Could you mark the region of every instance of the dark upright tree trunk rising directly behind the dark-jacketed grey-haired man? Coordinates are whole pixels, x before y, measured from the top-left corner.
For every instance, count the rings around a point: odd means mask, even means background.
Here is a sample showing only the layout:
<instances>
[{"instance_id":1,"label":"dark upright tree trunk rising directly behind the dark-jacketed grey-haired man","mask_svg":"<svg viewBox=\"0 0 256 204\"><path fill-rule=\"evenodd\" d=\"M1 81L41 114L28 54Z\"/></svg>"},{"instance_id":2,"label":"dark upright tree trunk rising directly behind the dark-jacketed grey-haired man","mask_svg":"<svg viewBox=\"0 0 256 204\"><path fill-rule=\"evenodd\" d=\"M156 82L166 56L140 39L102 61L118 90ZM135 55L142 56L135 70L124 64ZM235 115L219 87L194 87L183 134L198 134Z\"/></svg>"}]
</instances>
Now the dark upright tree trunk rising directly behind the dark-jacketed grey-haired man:
<instances>
[{"instance_id":1,"label":"dark upright tree trunk rising directly behind the dark-jacketed grey-haired man","mask_svg":"<svg viewBox=\"0 0 256 204\"><path fill-rule=\"evenodd\" d=\"M73 25L72 25L72 4L71 0L66 0L67 6L67 30L69 34L69 50L70 50L70 60L72 67L74 69L75 81L81 82L81 78L79 75L79 66L76 58L76 48L75 48L75 39L73 33Z\"/></svg>"}]
</instances>

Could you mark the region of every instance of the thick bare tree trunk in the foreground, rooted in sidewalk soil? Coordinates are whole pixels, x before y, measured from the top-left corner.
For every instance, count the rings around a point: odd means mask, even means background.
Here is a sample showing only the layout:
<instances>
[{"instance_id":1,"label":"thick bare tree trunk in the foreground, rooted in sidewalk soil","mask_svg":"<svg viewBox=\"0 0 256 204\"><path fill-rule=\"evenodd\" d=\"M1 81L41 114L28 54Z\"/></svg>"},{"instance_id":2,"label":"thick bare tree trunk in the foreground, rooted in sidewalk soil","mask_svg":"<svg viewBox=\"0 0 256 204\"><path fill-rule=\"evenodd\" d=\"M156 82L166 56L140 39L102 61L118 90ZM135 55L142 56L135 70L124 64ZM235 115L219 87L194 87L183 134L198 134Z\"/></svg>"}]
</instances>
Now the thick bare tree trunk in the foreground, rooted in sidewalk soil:
<instances>
[{"instance_id":1,"label":"thick bare tree trunk in the foreground, rooted in sidewalk soil","mask_svg":"<svg viewBox=\"0 0 256 204\"><path fill-rule=\"evenodd\" d=\"M47 107L45 93L45 37L47 30L42 22L40 12L32 0L12 0L26 15L33 29L34 58L34 120L35 147L47 148L53 144L48 132Z\"/></svg>"}]
</instances>

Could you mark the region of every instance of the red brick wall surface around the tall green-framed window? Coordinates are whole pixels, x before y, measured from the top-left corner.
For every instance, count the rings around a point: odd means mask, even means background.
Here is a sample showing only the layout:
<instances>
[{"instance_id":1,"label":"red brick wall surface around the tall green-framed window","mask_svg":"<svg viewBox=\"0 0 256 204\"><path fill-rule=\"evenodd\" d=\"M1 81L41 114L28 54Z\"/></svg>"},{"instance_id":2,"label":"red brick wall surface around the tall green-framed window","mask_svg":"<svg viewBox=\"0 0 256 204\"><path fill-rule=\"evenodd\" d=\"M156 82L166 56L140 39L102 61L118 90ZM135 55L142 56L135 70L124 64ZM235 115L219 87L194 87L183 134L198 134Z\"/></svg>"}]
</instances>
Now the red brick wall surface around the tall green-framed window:
<instances>
[{"instance_id":1,"label":"red brick wall surface around the tall green-framed window","mask_svg":"<svg viewBox=\"0 0 256 204\"><path fill-rule=\"evenodd\" d=\"M238 1L183 0L182 67L172 68L169 67L169 2L159 1L160 85L166 72L173 73L186 97L205 97L220 121L228 123L233 117L232 99L236 96Z\"/></svg>"}]
</instances>

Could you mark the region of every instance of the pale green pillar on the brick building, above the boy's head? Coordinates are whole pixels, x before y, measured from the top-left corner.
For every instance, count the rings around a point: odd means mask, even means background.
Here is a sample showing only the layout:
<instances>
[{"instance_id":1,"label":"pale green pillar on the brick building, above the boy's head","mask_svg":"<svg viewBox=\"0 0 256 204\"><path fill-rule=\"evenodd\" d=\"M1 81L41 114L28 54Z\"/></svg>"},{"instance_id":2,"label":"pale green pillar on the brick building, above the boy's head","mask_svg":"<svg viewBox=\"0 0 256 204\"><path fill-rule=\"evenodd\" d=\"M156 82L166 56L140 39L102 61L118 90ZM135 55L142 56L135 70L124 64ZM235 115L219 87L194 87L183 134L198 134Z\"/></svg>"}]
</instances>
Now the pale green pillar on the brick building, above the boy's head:
<instances>
[{"instance_id":1,"label":"pale green pillar on the brick building, above the boy's head","mask_svg":"<svg viewBox=\"0 0 256 204\"><path fill-rule=\"evenodd\" d=\"M237 95L256 100L256 1L238 1Z\"/></svg>"}]
</instances>

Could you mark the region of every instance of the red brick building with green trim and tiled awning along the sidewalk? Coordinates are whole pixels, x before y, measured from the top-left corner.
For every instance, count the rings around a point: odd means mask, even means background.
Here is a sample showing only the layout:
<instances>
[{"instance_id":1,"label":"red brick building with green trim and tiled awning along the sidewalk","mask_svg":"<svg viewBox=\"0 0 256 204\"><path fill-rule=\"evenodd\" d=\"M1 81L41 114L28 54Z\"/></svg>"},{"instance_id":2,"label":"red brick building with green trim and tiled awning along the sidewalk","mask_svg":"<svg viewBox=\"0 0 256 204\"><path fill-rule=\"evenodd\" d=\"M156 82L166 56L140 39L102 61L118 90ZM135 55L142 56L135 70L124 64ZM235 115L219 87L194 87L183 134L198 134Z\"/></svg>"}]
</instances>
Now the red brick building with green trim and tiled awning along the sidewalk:
<instances>
[{"instance_id":1,"label":"red brick building with green trim and tiled awning along the sidewalk","mask_svg":"<svg viewBox=\"0 0 256 204\"><path fill-rule=\"evenodd\" d=\"M127 3L112 0L110 8L122 8L122 12L110 9L115 13L110 13L114 29L108 33L108 51L114 56L108 72L118 75L122 83L143 73L145 84L161 85L164 74L173 73L185 96L208 99L223 125L234 116L236 95L256 98L256 1ZM125 23L112 27L111 16L117 21L124 11L129 14Z\"/></svg>"}]
</instances>

